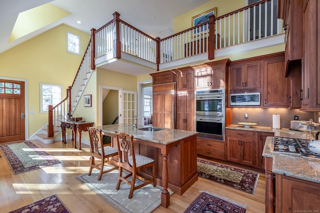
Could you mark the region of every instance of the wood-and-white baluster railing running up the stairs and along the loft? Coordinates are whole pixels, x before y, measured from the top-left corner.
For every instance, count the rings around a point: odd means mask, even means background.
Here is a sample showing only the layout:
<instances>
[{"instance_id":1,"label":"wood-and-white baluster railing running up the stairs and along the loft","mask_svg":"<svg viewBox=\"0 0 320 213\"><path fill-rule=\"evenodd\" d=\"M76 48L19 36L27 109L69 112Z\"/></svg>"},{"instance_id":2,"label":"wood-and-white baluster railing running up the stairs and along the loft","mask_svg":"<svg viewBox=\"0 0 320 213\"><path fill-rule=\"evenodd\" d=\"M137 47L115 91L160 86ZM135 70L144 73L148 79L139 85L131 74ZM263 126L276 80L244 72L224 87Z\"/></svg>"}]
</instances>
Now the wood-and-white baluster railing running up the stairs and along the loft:
<instances>
[{"instance_id":1,"label":"wood-and-white baluster railing running up the stairs and along the loft","mask_svg":"<svg viewBox=\"0 0 320 213\"><path fill-rule=\"evenodd\" d=\"M214 59L214 51L283 33L276 19L277 0L260 0L254 4L219 17L211 15L207 22L193 26L166 38L152 38L113 13L113 19L99 29L91 29L91 39L85 51L72 86L69 87L68 113L74 109L85 86L88 73L95 69L95 59L112 53L121 58L121 52L159 64L207 53ZM211 33L214 32L214 33ZM62 103L61 103L62 104ZM59 109L54 106L53 109ZM65 107L63 107L65 108ZM52 121L49 113L49 122ZM54 117L54 116L53 116ZM52 129L52 123L48 126ZM52 133L48 133L48 136Z\"/></svg>"}]
</instances>

